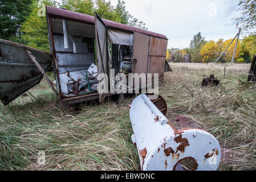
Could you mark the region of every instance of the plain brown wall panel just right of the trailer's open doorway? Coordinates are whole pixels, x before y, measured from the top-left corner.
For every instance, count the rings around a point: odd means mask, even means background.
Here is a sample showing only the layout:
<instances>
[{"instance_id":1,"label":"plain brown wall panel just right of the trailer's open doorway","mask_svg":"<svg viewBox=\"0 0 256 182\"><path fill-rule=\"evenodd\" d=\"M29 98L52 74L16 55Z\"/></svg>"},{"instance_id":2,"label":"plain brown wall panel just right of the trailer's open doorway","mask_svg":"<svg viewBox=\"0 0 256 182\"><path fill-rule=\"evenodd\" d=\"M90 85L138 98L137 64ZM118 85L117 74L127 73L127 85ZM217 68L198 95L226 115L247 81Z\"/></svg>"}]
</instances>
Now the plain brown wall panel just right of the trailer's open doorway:
<instances>
[{"instance_id":1,"label":"plain brown wall panel just right of the trailer's open doorway","mask_svg":"<svg viewBox=\"0 0 256 182\"><path fill-rule=\"evenodd\" d=\"M133 73L147 74L149 39L148 35L138 32L133 33Z\"/></svg>"}]
</instances>

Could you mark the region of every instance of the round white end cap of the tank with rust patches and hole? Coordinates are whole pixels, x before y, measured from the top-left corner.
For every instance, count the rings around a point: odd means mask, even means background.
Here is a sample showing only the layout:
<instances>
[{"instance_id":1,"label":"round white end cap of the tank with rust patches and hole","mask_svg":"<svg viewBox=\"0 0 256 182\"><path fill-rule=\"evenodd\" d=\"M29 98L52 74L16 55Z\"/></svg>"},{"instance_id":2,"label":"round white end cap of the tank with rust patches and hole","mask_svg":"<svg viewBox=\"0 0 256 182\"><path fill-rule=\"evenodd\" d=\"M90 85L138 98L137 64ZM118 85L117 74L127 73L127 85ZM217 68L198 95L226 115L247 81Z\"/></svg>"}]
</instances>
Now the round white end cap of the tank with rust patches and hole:
<instances>
[{"instance_id":1,"label":"round white end cap of the tank with rust patches and hole","mask_svg":"<svg viewBox=\"0 0 256 182\"><path fill-rule=\"evenodd\" d=\"M217 139L200 129L183 129L176 135L161 140L144 159L144 170L215 171L221 160L221 147ZM182 167L182 166L187 167Z\"/></svg>"}]
</instances>

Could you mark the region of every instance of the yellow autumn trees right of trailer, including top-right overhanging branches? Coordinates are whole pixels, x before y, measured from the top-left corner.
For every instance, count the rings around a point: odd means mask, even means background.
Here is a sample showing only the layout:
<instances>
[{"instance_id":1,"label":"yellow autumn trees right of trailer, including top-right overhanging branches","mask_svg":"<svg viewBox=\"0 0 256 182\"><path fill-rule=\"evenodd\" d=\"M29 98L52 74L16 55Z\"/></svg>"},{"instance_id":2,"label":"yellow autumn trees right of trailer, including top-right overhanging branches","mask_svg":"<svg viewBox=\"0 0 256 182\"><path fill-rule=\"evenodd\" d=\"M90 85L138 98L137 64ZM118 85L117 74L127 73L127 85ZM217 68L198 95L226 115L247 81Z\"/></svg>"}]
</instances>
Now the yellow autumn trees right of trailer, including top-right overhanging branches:
<instances>
[{"instance_id":1,"label":"yellow autumn trees right of trailer, including top-right overhanging branches","mask_svg":"<svg viewBox=\"0 0 256 182\"><path fill-rule=\"evenodd\" d=\"M250 63L253 56L256 56L256 1L240 0L237 11L241 16L233 18L237 22L237 28L242 30L242 39L238 40L237 49L234 56L235 63ZM168 61L181 62L191 61L192 63L215 62L221 53L226 49L233 39L219 39L206 41L201 32L194 35L189 47L184 49L170 48L166 51ZM237 39L230 45L219 62L230 62Z\"/></svg>"}]
</instances>

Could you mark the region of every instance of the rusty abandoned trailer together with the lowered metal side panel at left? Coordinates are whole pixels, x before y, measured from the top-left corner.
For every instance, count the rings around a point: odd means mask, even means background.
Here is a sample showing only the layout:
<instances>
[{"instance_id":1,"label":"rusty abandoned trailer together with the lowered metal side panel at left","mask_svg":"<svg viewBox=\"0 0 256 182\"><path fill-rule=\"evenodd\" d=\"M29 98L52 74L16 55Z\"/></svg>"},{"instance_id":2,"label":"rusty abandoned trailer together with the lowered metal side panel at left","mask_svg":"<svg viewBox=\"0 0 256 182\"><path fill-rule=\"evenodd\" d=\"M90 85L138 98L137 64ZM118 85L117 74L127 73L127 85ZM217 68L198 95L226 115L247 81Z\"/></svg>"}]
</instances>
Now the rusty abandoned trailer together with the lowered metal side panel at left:
<instances>
[{"instance_id":1,"label":"rusty abandoned trailer together with the lowered metal side panel at left","mask_svg":"<svg viewBox=\"0 0 256 182\"><path fill-rule=\"evenodd\" d=\"M90 16L50 6L46 7L46 18L51 53L7 40L0 42L0 97L5 105L38 84L43 76L62 105L73 105L94 99L101 102L117 94L97 90L97 75L111 76L110 69L114 76L158 73L159 81L165 69L171 70L166 67L165 35L101 19L97 13ZM51 64L57 90L45 74ZM17 81L13 84L12 80ZM155 83L152 78L132 88ZM115 84L109 83L114 91Z\"/></svg>"}]
</instances>

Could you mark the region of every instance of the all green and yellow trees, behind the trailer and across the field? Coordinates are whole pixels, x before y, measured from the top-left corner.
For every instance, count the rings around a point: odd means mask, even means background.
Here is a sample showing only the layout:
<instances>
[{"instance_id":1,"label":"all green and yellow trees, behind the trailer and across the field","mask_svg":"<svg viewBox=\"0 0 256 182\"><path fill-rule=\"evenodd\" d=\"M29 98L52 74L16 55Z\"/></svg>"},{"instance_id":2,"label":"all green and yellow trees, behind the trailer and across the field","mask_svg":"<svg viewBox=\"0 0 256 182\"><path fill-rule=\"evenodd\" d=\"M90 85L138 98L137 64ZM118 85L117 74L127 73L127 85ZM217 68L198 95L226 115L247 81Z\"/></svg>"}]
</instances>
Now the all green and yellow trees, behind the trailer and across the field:
<instances>
[{"instance_id":1,"label":"all green and yellow trees, behind the trailer and across the field","mask_svg":"<svg viewBox=\"0 0 256 182\"><path fill-rule=\"evenodd\" d=\"M116 6L112 5L111 0L0 0L0 38L50 51L46 17L42 11L45 5L62 7L88 15L94 15L96 11L101 18L147 29L143 21L129 14L124 0L119 0ZM234 61L248 63L253 55L256 55L256 32L250 32L255 30L256 26L256 1L240 0L238 11L241 11L241 17L234 19L237 22L237 28L242 29L243 36L241 35L238 41ZM184 60L186 56L194 63L209 63L221 55L231 40L206 41L201 32L198 32L190 41L188 48L168 49L166 59L178 62ZM221 57L220 62L231 61L235 42L236 40Z\"/></svg>"}]
</instances>

